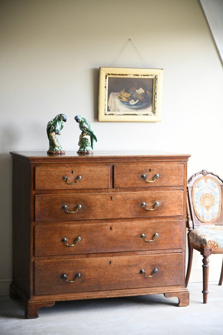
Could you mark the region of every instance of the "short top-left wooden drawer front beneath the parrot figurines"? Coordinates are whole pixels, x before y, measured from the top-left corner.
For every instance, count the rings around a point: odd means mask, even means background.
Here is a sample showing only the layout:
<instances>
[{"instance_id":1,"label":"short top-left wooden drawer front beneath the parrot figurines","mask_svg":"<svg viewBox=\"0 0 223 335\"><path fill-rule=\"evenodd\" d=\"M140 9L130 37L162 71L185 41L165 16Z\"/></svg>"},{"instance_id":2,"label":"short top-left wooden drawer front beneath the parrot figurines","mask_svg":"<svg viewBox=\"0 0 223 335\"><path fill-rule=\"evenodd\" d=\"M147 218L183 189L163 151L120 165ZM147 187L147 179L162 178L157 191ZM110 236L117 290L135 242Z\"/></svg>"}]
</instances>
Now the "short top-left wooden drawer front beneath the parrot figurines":
<instances>
[{"instance_id":1,"label":"short top-left wooden drawer front beneath the parrot figurines","mask_svg":"<svg viewBox=\"0 0 223 335\"><path fill-rule=\"evenodd\" d=\"M72 172L73 171L73 172ZM63 180L63 177L67 180ZM81 179L77 182L77 177ZM75 183L75 184L68 184ZM35 167L36 190L109 188L110 166Z\"/></svg>"}]
</instances>

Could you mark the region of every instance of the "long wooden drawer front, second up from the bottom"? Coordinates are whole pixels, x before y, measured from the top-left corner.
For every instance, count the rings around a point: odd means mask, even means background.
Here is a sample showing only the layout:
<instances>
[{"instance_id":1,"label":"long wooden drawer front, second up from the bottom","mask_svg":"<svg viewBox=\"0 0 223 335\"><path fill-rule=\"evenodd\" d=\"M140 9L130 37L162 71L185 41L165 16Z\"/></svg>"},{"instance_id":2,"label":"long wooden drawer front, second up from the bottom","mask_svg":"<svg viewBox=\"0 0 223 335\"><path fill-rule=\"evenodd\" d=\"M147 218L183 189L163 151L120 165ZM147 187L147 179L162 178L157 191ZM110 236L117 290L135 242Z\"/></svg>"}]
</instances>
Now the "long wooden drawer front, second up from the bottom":
<instances>
[{"instance_id":1,"label":"long wooden drawer front, second up from the bottom","mask_svg":"<svg viewBox=\"0 0 223 335\"><path fill-rule=\"evenodd\" d=\"M182 220L35 226L35 256L181 248Z\"/></svg>"}]
</instances>

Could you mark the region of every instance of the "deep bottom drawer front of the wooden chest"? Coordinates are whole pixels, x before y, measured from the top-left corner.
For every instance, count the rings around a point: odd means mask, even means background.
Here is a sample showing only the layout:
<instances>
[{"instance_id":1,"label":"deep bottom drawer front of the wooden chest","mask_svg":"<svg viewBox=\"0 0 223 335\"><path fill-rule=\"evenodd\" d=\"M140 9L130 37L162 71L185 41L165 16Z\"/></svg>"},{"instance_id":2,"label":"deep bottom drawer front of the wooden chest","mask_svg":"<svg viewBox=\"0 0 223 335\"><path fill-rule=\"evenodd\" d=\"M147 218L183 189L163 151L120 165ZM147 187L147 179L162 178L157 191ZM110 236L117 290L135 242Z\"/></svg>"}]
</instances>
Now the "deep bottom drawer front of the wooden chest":
<instances>
[{"instance_id":1,"label":"deep bottom drawer front of the wooden chest","mask_svg":"<svg viewBox=\"0 0 223 335\"><path fill-rule=\"evenodd\" d=\"M35 261L35 294L182 285L182 254ZM153 269L158 271L152 277ZM77 273L81 277L74 282Z\"/></svg>"}]
</instances>

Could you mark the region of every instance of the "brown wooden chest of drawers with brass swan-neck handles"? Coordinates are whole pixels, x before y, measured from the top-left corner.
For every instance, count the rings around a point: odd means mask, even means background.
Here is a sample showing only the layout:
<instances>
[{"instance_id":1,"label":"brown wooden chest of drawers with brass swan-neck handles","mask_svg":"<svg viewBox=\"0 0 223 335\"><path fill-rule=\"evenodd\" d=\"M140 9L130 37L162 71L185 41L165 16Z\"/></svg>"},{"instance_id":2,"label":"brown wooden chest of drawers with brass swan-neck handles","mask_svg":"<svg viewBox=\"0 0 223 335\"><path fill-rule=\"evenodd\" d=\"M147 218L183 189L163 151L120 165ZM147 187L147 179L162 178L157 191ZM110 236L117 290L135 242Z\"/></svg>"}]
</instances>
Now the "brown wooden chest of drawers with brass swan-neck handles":
<instances>
[{"instance_id":1,"label":"brown wooden chest of drawers with brass swan-neck handles","mask_svg":"<svg viewBox=\"0 0 223 335\"><path fill-rule=\"evenodd\" d=\"M11 152L12 298L27 318L55 301L164 293L189 304L189 155Z\"/></svg>"}]
</instances>

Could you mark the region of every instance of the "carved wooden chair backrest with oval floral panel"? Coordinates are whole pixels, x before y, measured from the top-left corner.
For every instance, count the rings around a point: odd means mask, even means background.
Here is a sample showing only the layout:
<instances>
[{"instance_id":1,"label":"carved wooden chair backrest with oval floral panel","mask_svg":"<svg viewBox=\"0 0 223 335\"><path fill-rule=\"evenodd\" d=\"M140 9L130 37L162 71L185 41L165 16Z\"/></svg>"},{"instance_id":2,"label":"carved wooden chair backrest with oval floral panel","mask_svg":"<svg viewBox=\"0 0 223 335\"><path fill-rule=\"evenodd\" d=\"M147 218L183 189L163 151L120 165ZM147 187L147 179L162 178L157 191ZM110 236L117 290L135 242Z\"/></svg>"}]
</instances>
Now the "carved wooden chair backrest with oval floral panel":
<instances>
[{"instance_id":1,"label":"carved wooden chair backrest with oval floral panel","mask_svg":"<svg viewBox=\"0 0 223 335\"><path fill-rule=\"evenodd\" d=\"M223 180L219 176L206 170L196 173L188 180L187 193L193 227L222 225Z\"/></svg>"}]
</instances>

